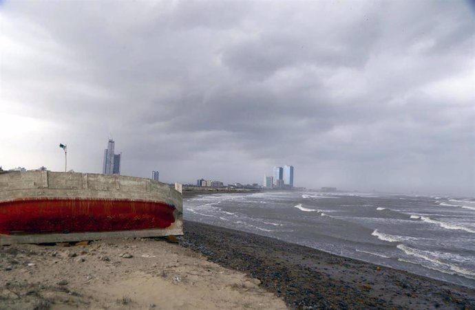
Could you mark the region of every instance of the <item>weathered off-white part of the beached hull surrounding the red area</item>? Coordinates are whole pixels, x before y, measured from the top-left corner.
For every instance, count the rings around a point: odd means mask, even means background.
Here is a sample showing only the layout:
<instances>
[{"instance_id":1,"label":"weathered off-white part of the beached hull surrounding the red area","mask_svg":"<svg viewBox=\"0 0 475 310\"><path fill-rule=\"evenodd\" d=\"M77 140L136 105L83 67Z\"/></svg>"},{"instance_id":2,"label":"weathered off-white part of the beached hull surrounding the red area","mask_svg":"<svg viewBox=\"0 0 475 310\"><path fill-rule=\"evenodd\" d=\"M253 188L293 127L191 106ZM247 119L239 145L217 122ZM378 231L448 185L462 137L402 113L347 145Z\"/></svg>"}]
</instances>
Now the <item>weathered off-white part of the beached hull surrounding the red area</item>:
<instances>
[{"instance_id":1,"label":"weathered off-white part of the beached hull surrounding the red area","mask_svg":"<svg viewBox=\"0 0 475 310\"><path fill-rule=\"evenodd\" d=\"M1 203L28 198L83 198L83 199L131 199L156 201L175 206L176 221L163 230L136 230L124 232L92 232L76 234L50 234L49 236L0 235L0 244L41 243L103 239L114 236L167 236L183 234L182 195L167 184L139 177L100 175L95 173L58 173L28 171L0 174Z\"/></svg>"}]
</instances>

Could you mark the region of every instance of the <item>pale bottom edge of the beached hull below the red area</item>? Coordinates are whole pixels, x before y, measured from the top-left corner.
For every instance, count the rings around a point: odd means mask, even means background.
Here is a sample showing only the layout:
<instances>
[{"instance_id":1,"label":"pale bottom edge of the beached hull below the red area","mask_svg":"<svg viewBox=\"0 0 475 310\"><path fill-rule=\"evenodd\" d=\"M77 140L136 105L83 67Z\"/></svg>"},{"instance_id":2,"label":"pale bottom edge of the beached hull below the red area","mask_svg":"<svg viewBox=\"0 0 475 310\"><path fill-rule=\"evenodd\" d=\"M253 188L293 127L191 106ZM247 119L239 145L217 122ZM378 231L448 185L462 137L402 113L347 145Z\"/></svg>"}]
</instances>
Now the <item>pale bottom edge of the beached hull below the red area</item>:
<instances>
[{"instance_id":1,"label":"pale bottom edge of the beached hull below the red area","mask_svg":"<svg viewBox=\"0 0 475 310\"><path fill-rule=\"evenodd\" d=\"M0 234L0 245L17 243L56 243L72 241L89 241L112 238L147 238L159 236L179 236L183 234L182 222L178 221L170 228L151 230L123 230L116 232L72 232L69 234Z\"/></svg>"}]
</instances>

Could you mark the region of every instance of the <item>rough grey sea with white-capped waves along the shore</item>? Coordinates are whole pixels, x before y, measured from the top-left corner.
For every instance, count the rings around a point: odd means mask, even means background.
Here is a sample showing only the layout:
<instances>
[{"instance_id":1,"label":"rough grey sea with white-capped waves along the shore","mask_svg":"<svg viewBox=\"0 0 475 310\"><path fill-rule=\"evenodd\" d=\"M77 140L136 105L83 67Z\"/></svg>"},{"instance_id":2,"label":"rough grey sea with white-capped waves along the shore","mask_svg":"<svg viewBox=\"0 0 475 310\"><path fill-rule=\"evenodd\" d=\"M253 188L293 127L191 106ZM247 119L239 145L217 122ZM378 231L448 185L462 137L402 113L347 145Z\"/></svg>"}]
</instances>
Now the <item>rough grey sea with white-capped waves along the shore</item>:
<instances>
[{"instance_id":1,"label":"rough grey sea with white-capped waves along the shore","mask_svg":"<svg viewBox=\"0 0 475 310\"><path fill-rule=\"evenodd\" d=\"M474 198L263 191L199 195L183 205L185 221L475 288Z\"/></svg>"}]
</instances>

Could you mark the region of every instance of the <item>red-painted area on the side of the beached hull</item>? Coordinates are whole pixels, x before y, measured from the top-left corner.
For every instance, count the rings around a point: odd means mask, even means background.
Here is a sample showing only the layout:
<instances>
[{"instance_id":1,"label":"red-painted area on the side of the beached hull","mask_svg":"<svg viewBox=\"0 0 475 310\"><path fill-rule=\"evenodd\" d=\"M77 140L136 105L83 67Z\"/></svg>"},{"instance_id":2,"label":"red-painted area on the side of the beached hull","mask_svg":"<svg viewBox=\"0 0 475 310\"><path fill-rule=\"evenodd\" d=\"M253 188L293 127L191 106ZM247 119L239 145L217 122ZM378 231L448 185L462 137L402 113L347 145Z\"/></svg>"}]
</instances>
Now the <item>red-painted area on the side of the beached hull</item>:
<instances>
[{"instance_id":1,"label":"red-painted area on the side of the beached hull","mask_svg":"<svg viewBox=\"0 0 475 310\"><path fill-rule=\"evenodd\" d=\"M0 202L0 234L168 228L174 210L166 203L127 199L19 199Z\"/></svg>"}]
</instances>

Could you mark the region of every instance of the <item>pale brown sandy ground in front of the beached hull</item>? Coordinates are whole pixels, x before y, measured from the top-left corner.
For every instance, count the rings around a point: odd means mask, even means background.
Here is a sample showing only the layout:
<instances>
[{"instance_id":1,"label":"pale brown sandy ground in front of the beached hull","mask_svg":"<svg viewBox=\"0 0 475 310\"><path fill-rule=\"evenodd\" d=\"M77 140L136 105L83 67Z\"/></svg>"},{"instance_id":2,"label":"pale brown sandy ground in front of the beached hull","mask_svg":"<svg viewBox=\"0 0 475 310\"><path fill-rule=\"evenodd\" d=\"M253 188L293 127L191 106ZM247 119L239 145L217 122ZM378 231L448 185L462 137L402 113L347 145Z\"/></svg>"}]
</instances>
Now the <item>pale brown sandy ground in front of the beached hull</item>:
<instances>
[{"instance_id":1,"label":"pale brown sandy ground in front of the beached hull","mask_svg":"<svg viewBox=\"0 0 475 310\"><path fill-rule=\"evenodd\" d=\"M162 239L0 247L0 309L286 309L259 284Z\"/></svg>"}]
</instances>

